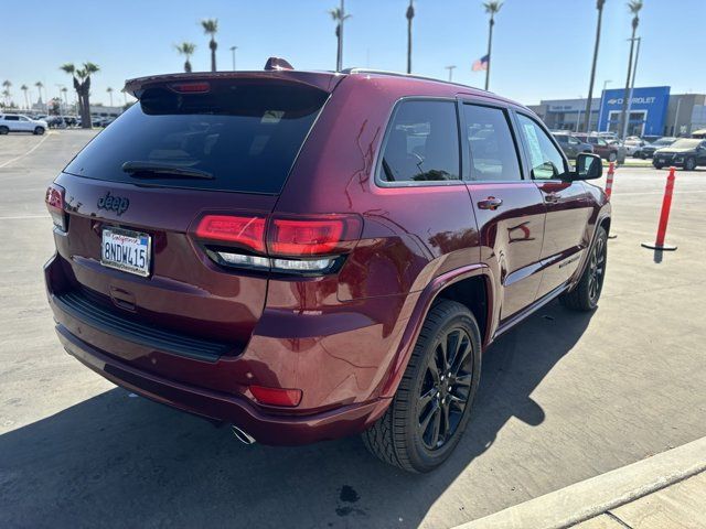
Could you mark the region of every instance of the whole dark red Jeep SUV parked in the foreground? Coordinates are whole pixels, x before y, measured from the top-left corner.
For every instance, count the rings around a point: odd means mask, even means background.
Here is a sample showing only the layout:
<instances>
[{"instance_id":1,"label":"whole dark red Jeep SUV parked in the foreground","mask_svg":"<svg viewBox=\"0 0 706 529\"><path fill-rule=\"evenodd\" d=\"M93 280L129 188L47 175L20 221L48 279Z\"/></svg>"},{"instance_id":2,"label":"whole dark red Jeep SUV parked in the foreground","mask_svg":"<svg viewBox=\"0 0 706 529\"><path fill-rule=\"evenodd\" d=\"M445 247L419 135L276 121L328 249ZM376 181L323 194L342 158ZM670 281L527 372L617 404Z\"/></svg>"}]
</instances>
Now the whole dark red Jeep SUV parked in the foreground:
<instances>
[{"instance_id":1,"label":"whole dark red Jeep SUV parked in the foreground","mask_svg":"<svg viewBox=\"0 0 706 529\"><path fill-rule=\"evenodd\" d=\"M426 472L482 352L554 298L592 310L610 206L526 108L365 71L176 74L50 186L66 350L244 442L363 433ZM282 64L282 63L279 63Z\"/></svg>"}]
</instances>

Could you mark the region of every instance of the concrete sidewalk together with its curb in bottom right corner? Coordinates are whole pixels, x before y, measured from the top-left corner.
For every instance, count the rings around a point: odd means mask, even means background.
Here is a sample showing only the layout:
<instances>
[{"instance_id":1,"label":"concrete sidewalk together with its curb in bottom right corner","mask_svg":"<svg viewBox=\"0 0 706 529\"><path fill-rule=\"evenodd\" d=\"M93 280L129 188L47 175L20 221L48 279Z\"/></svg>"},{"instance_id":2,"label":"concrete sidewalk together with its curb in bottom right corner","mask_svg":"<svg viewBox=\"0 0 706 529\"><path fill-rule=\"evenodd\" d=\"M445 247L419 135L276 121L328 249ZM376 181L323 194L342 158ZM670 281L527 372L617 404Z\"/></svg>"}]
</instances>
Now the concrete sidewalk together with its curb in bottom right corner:
<instances>
[{"instance_id":1,"label":"concrete sidewalk together with its curb in bottom right corner","mask_svg":"<svg viewBox=\"0 0 706 529\"><path fill-rule=\"evenodd\" d=\"M706 527L706 438L456 529Z\"/></svg>"}]
</instances>

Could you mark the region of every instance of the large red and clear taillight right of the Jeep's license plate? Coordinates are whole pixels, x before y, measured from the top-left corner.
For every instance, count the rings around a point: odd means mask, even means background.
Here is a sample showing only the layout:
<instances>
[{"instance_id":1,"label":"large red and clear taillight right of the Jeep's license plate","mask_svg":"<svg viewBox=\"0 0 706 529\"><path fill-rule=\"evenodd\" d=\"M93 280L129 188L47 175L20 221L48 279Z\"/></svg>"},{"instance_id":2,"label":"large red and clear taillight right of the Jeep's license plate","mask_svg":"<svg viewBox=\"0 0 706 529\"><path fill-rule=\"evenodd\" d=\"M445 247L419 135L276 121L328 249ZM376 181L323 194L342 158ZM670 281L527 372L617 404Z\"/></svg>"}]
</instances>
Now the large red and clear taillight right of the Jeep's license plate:
<instances>
[{"instance_id":1,"label":"large red and clear taillight right of the Jeep's license plate","mask_svg":"<svg viewBox=\"0 0 706 529\"><path fill-rule=\"evenodd\" d=\"M355 215L269 219L257 215L205 215L192 235L223 266L321 274L336 270L344 253L361 237L362 226Z\"/></svg>"}]
</instances>

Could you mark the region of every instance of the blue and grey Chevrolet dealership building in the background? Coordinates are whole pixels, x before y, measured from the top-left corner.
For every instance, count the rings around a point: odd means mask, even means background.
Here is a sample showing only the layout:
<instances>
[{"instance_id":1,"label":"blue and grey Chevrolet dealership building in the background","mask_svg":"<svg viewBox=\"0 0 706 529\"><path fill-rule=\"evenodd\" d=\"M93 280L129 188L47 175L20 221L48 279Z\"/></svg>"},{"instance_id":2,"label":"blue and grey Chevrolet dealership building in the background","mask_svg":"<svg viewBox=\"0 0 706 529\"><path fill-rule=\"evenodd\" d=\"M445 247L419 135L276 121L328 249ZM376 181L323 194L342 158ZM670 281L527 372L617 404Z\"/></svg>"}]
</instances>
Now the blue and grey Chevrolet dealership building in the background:
<instances>
[{"instance_id":1,"label":"blue and grey Chevrolet dealership building in the background","mask_svg":"<svg viewBox=\"0 0 706 529\"><path fill-rule=\"evenodd\" d=\"M624 90L603 90L591 101L590 130L618 132ZM586 98L530 105L553 130L585 130ZM706 128L706 94L671 94L668 86L632 90L628 136L689 136Z\"/></svg>"}]
</instances>

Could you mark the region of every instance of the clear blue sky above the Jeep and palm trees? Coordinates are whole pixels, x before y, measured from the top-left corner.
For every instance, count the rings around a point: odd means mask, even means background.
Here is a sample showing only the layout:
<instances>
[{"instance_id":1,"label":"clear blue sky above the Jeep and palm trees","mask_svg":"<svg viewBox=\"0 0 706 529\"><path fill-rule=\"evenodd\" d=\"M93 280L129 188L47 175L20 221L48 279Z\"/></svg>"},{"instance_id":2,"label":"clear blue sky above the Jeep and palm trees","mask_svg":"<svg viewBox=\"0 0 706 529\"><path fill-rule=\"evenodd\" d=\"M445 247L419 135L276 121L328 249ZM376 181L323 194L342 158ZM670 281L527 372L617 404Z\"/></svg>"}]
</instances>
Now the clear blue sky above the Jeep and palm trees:
<instances>
[{"instance_id":1,"label":"clear blue sky above the Jeep and palm trees","mask_svg":"<svg viewBox=\"0 0 706 529\"><path fill-rule=\"evenodd\" d=\"M404 71L408 0L346 0L344 67ZM625 0L607 0L596 90L624 86L630 14ZM69 78L66 62L97 63L94 101L107 104L106 87L128 77L178 72L183 60L173 45L196 44L194 71L210 68L207 39L199 21L217 18L220 69L229 69L237 45L238 69L261 69L270 55L301 69L335 65L334 24L328 10L338 0L0 0L3 51L0 78L20 85L41 80L49 95ZM414 72L482 86L471 64L485 53L488 19L481 0L415 0ZM672 93L706 91L706 0L644 0L639 86L668 85ZM491 90L524 104L586 96L592 54L595 0L505 0L496 18ZM12 23L10 23L10 21ZM41 35L41 36L40 36ZM34 89L36 97L36 91ZM121 101L120 94L114 95Z\"/></svg>"}]
</instances>

